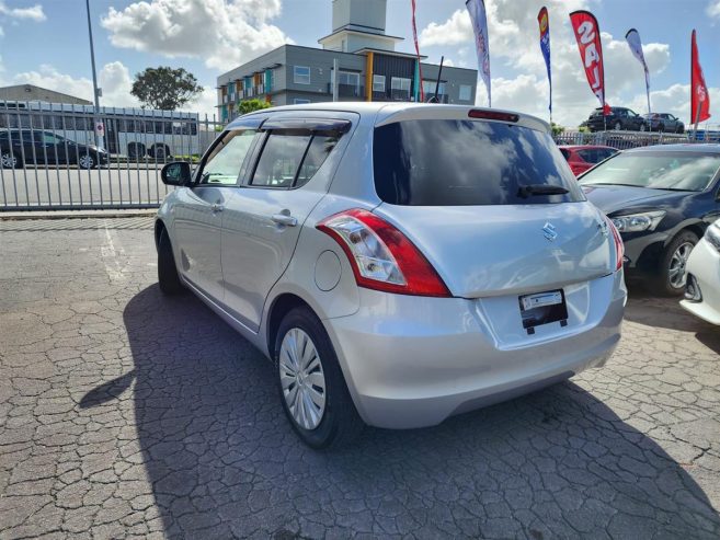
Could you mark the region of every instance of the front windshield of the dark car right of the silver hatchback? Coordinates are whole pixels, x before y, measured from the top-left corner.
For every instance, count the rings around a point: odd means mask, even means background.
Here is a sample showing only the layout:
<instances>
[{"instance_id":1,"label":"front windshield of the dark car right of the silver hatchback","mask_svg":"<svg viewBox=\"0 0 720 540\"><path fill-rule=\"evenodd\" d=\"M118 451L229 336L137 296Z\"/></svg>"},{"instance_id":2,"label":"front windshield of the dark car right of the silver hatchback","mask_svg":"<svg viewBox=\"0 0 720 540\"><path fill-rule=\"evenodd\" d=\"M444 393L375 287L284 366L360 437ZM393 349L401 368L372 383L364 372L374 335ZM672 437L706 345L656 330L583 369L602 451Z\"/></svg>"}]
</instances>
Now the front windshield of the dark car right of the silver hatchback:
<instances>
[{"instance_id":1,"label":"front windshield of the dark car right of the silver hatchback","mask_svg":"<svg viewBox=\"0 0 720 540\"><path fill-rule=\"evenodd\" d=\"M630 152L599 164L580 183L701 192L708 187L718 168L720 154L717 153Z\"/></svg>"}]
</instances>

